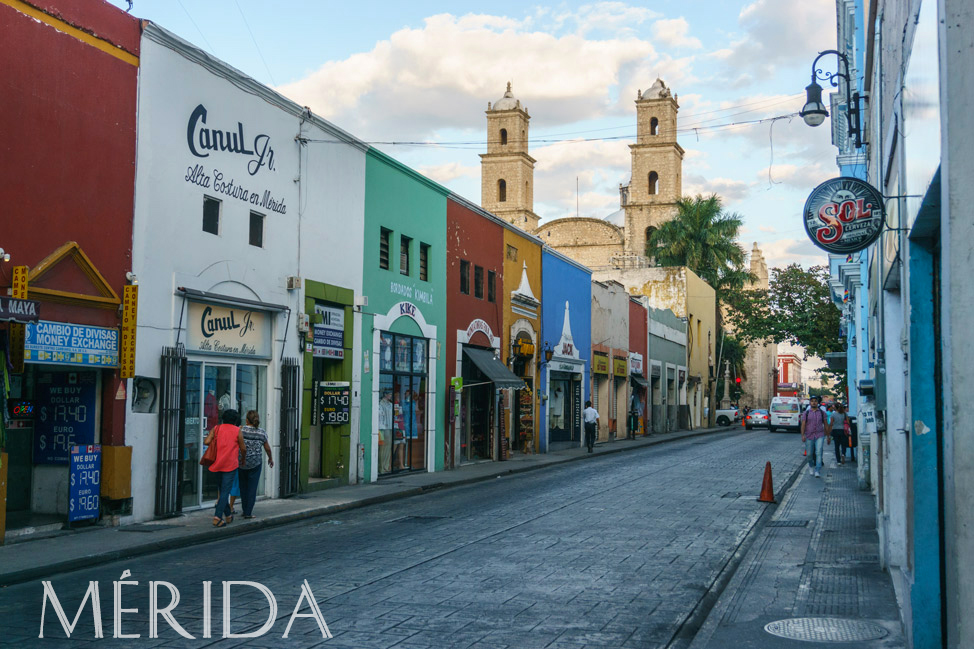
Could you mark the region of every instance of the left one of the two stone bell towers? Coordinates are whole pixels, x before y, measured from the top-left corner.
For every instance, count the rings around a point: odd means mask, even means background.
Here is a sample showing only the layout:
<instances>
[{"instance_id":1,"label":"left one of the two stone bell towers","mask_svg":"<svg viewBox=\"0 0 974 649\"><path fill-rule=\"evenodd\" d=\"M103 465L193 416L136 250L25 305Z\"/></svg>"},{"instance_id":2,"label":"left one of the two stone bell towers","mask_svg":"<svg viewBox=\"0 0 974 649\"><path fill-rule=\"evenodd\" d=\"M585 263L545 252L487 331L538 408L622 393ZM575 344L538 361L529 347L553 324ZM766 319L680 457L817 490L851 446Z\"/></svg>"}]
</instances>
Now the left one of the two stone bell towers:
<instances>
[{"instance_id":1,"label":"left one of the two stone bell towers","mask_svg":"<svg viewBox=\"0 0 974 649\"><path fill-rule=\"evenodd\" d=\"M487 103L487 153L480 154L480 205L512 225L533 232L534 158L528 155L528 109L514 98L511 83Z\"/></svg>"}]
</instances>

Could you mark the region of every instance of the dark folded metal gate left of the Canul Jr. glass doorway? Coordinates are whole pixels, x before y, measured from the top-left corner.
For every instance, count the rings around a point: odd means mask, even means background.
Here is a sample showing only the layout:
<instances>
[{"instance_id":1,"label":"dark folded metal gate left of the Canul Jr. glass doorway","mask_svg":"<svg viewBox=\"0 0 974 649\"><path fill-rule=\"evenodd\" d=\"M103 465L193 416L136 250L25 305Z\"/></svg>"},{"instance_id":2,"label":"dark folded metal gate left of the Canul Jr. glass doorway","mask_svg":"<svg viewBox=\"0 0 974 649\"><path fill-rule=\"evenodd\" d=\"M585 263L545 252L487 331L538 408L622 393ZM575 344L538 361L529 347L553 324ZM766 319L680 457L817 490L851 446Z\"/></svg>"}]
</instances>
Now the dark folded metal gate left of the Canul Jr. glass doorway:
<instances>
[{"instance_id":1,"label":"dark folded metal gate left of the Canul Jr. glass doorway","mask_svg":"<svg viewBox=\"0 0 974 649\"><path fill-rule=\"evenodd\" d=\"M183 448L186 441L186 348L162 349L159 395L159 448L156 469L156 516L182 510ZM196 467L192 467L195 470Z\"/></svg>"}]
</instances>

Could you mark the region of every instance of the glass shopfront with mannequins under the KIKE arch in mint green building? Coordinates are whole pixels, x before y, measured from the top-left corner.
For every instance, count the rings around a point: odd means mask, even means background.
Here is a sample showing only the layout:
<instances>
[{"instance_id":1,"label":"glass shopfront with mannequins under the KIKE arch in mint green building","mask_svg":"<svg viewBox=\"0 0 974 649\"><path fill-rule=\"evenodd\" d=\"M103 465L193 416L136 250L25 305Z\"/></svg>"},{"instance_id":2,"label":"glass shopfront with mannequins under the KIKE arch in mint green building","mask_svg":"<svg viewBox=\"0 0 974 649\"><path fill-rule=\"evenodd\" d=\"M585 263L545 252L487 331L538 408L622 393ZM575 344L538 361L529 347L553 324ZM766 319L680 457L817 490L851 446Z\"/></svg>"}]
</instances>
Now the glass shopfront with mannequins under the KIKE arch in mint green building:
<instances>
[{"instance_id":1,"label":"glass shopfront with mannequins under the KIKE arch in mint green building","mask_svg":"<svg viewBox=\"0 0 974 649\"><path fill-rule=\"evenodd\" d=\"M425 338L379 335L379 474L426 469Z\"/></svg>"}]
</instances>

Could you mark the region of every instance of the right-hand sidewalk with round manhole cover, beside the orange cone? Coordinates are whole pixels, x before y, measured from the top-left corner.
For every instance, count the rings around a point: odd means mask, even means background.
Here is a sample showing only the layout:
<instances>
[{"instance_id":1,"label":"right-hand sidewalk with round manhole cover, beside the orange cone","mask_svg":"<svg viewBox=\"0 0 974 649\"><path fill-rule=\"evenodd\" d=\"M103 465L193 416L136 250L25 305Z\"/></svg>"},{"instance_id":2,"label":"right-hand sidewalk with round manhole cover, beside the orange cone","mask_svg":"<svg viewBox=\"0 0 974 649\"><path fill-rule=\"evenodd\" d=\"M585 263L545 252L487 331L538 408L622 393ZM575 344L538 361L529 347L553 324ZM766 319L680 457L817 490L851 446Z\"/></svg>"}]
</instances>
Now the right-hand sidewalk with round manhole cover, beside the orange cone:
<instances>
[{"instance_id":1,"label":"right-hand sidewalk with round manhole cover, beside the orange cone","mask_svg":"<svg viewBox=\"0 0 974 649\"><path fill-rule=\"evenodd\" d=\"M801 469L690 649L906 646L873 496L825 450L822 477Z\"/></svg>"}]
</instances>

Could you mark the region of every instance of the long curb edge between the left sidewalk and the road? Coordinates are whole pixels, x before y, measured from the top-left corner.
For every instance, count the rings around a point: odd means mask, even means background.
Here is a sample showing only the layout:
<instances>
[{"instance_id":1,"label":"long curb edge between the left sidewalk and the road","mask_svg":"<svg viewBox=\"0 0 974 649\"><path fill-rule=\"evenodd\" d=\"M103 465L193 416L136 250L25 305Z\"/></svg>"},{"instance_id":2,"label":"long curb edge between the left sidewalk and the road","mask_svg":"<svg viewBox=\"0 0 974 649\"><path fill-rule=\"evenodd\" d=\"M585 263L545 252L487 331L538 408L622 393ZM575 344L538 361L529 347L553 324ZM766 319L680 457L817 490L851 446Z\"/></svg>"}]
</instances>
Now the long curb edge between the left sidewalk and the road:
<instances>
[{"instance_id":1,"label":"long curb edge between the left sidewalk and the road","mask_svg":"<svg viewBox=\"0 0 974 649\"><path fill-rule=\"evenodd\" d=\"M314 509L309 509L301 512L294 512L291 514L279 514L271 518L260 519L254 523L247 523L246 525L241 525L238 527L222 527L219 528L219 531L204 528L201 531L194 534L188 534L185 536L165 539L161 541L148 542L142 545L124 548L121 550L111 550L98 555L89 555L86 557L67 559L65 561L51 563L46 566L38 566L33 568L26 568L24 570L8 572L0 575L0 588L6 586L13 586L16 584L22 584L49 575L56 575L64 572L72 572L74 570L80 570L82 568L93 568L95 566L104 565L106 563L111 563L113 561L119 561L122 559L132 559L135 557L141 557L148 554L155 554L157 552L164 552L167 550L177 550L177 549L181 549L193 545L201 545L203 543L209 543L212 541L221 541L223 539L234 537L234 536L241 536L243 534L260 532L273 527L289 525L291 523L297 523L300 521L305 521L312 518L318 518L321 516L328 516L330 514L336 514L351 509L359 509L362 507L378 505L393 500L411 498L413 496L419 496L425 493L430 493L432 491L439 491L441 489L449 489L452 487L460 487L469 484L474 484L477 482L484 482L487 480L495 480L501 476L527 473L529 471L546 469L553 466L567 464L569 462L589 460L597 457L603 457L605 455L613 455L615 453L635 451L650 446L658 446L660 444L677 442L684 439L692 439L694 437L702 437L704 435L713 435L713 434L728 433L728 432L740 434L744 431L743 429L738 429L738 427L736 426L721 427L717 430L713 428L706 428L702 430L689 431L687 434L680 435L679 437L672 437L672 438L666 437L666 438L655 439L655 440L650 439L646 443L640 444L638 446L624 446L620 448L611 448L611 449L603 450L600 453L594 453L594 454L582 453L575 456L553 460L551 462L545 462L543 464L533 464L533 465L528 465L523 467L500 470L494 473L490 473L488 475L471 476L469 478L450 480L448 482L435 482L432 484L422 485L418 487L406 488L401 491L395 491L388 494L370 496L368 498L362 498L359 500L354 500L346 503L339 503L335 505L324 505Z\"/></svg>"}]
</instances>

